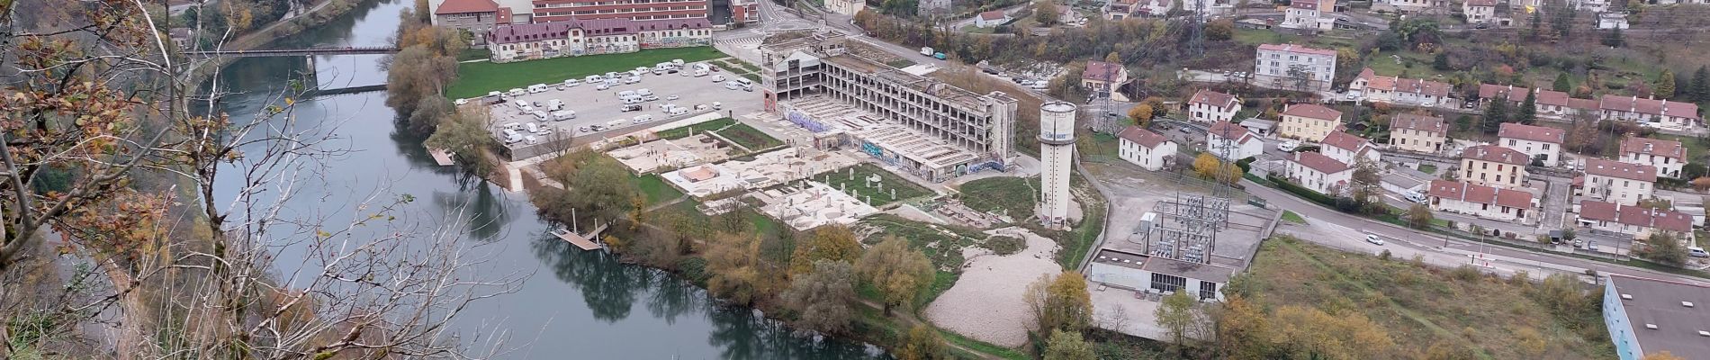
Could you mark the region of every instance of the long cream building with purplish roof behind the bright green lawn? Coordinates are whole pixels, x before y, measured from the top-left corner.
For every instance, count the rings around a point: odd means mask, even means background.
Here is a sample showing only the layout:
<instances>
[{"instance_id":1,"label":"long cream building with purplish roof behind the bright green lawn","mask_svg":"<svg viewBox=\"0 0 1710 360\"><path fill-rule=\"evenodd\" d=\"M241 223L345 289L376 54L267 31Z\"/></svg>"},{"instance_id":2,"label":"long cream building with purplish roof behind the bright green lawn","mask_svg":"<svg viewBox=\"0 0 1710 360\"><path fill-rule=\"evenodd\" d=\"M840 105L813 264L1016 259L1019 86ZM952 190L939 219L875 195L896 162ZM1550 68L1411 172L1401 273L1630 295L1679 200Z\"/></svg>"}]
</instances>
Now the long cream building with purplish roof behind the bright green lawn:
<instances>
[{"instance_id":1,"label":"long cream building with purplish roof behind the bright green lawn","mask_svg":"<svg viewBox=\"0 0 1710 360\"><path fill-rule=\"evenodd\" d=\"M706 19L510 24L487 32L487 48L494 63L634 53L652 48L708 46L713 39L711 27Z\"/></svg>"}]
</instances>

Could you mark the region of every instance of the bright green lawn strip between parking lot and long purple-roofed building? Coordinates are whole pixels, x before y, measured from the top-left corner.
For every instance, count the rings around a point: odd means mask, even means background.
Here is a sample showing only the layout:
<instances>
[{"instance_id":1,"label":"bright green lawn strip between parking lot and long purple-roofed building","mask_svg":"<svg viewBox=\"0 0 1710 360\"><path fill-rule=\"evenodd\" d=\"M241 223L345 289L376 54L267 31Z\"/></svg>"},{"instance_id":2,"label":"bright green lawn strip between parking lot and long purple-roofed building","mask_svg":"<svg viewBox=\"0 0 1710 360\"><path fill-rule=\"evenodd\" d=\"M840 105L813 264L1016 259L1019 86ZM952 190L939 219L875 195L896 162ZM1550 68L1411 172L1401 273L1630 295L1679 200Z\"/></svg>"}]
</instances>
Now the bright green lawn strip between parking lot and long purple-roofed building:
<instances>
[{"instance_id":1,"label":"bright green lawn strip between parking lot and long purple-roofed building","mask_svg":"<svg viewBox=\"0 0 1710 360\"><path fill-rule=\"evenodd\" d=\"M634 70L636 67L653 67L655 63L663 63L681 58L682 61L701 61L710 58L723 58L725 53L718 53L711 46L696 48L665 48L665 49L645 49L638 53L621 53L621 55L588 55L588 56L566 56L566 58L547 58L547 60L530 60L516 63L458 63L457 80L445 89L445 96L451 99L465 99L484 96L489 90L506 90L528 87L534 84L556 84L564 78L580 78L593 73L605 72L624 72Z\"/></svg>"}]
</instances>

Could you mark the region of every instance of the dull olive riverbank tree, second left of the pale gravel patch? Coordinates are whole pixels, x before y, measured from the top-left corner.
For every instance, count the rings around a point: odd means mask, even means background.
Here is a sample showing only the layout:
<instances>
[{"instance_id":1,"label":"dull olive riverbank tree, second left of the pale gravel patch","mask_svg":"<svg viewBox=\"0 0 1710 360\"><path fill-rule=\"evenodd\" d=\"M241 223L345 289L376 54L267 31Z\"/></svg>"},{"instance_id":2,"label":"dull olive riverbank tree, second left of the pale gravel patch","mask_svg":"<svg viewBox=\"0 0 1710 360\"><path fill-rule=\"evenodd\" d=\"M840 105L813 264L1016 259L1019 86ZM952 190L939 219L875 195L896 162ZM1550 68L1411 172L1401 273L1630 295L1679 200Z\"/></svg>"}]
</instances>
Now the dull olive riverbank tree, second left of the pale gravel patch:
<instances>
[{"instance_id":1,"label":"dull olive riverbank tree, second left of the pale gravel patch","mask_svg":"<svg viewBox=\"0 0 1710 360\"><path fill-rule=\"evenodd\" d=\"M855 270L843 261L814 261L814 270L790 282L783 305L809 329L845 333L855 317Z\"/></svg>"}]
</instances>

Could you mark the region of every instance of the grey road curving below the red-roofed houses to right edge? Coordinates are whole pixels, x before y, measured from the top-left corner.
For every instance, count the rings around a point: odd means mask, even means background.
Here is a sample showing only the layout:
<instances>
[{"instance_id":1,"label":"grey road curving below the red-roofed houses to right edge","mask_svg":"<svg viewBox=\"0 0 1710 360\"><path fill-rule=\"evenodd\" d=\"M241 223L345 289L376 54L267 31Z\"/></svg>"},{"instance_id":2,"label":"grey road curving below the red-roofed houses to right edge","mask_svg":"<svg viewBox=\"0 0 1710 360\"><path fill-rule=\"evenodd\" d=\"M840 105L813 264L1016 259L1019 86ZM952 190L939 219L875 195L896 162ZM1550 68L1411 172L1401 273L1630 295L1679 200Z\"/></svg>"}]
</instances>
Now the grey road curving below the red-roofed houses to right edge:
<instances>
[{"instance_id":1,"label":"grey road curving below the red-roofed houses to right edge","mask_svg":"<svg viewBox=\"0 0 1710 360\"><path fill-rule=\"evenodd\" d=\"M1542 254L1542 253L1522 251L1522 249L1513 249L1513 247L1505 247L1505 246L1483 246L1479 242L1471 242L1471 241L1445 239L1445 237L1440 237L1440 235L1423 234L1419 230L1412 230L1412 229L1406 229L1406 227L1397 227L1394 224L1377 222L1377 220L1370 220L1370 218L1363 218L1363 217L1354 217L1354 215L1347 215L1347 213L1342 213L1342 212L1336 212L1336 210L1330 210L1330 208L1324 208L1324 206L1320 206L1317 203L1308 203L1308 201L1305 201L1301 198L1296 198L1293 195L1282 193L1281 189L1265 188L1265 186L1252 183L1252 181L1245 181L1243 179L1241 184L1247 186L1247 191L1250 195L1264 198L1272 206L1286 208L1286 210L1306 215L1310 218L1317 218L1317 220L1324 220L1324 222L1332 222L1332 224L1339 224L1339 225L1344 225L1344 227L1361 229L1361 230L1377 234L1380 237L1392 239L1392 242L1407 242L1406 246L1436 247L1436 249L1442 249L1445 244L1448 247L1459 247L1459 249L1481 249L1483 247L1484 253L1488 253L1488 254L1510 258L1510 259L1515 259L1515 261L1520 261L1520 263L1532 261L1532 263L1563 264L1563 266L1573 266L1573 268L1595 270L1597 273L1619 273L1619 275L1631 275L1631 276L1643 276L1643 278L1660 278L1660 280L1674 280L1674 282L1688 282L1688 283L1710 285L1710 282L1707 282L1705 278L1696 278L1696 276L1681 276L1681 275L1672 275L1672 273L1664 273L1664 271L1642 270L1642 268L1633 268L1633 266L1611 264L1611 263L1590 261L1590 259L1580 259L1580 258L1570 258L1570 256L1560 256L1560 254ZM1320 242L1320 244L1330 244L1332 242L1332 241L1327 241L1327 239L1303 239L1303 241Z\"/></svg>"}]
</instances>

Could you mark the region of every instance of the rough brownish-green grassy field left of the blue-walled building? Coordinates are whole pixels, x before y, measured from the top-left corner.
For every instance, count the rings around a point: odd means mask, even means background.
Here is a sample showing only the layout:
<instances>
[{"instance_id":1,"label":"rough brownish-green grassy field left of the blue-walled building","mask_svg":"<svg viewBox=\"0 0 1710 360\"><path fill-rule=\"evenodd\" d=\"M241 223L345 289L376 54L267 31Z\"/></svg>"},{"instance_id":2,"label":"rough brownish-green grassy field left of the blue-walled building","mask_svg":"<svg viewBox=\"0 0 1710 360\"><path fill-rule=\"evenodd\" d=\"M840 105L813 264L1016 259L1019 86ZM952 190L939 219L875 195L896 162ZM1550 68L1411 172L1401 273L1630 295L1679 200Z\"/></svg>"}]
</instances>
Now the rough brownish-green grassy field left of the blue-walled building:
<instances>
[{"instance_id":1,"label":"rough brownish-green grassy field left of the blue-walled building","mask_svg":"<svg viewBox=\"0 0 1710 360\"><path fill-rule=\"evenodd\" d=\"M1438 270L1411 261L1347 254L1291 237L1265 241L1245 278L1260 307L1317 307L1363 314L1395 341L1378 358L1613 358L1595 311L1597 290L1566 285L1592 302L1553 314L1571 297L1546 285L1501 280L1477 270ZM1560 290L1560 288L1558 288ZM1566 290L1575 292L1575 290Z\"/></svg>"}]
</instances>

